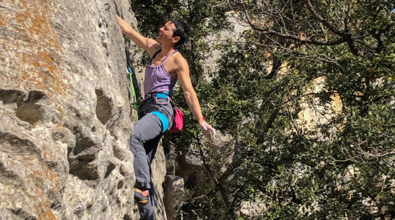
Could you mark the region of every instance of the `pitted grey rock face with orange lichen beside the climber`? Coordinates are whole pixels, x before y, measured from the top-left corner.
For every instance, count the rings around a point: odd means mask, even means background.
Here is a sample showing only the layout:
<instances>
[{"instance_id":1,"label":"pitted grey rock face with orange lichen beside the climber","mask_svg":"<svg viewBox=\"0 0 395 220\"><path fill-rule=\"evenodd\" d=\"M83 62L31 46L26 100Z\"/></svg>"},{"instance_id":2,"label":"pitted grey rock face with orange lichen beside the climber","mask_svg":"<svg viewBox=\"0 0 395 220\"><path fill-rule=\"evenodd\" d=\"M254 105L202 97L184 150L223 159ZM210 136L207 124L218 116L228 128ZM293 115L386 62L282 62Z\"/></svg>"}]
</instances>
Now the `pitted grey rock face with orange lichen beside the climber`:
<instances>
[{"instance_id":1,"label":"pitted grey rock face with orange lichen beside the climber","mask_svg":"<svg viewBox=\"0 0 395 220\"><path fill-rule=\"evenodd\" d=\"M128 1L105 3L0 2L0 219L138 218L115 14L136 21ZM163 194L164 160L155 167Z\"/></svg>"}]
</instances>

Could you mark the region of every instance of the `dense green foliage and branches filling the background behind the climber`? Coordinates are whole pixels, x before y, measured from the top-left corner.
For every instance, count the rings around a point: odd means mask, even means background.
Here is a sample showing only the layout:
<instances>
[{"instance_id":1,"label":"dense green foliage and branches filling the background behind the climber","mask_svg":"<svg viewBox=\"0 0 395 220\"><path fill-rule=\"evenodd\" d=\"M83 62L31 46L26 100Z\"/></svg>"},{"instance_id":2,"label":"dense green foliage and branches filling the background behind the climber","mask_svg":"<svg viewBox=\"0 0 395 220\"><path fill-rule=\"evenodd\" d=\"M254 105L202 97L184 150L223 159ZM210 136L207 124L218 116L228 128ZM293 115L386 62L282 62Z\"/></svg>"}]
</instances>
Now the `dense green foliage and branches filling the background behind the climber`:
<instances>
[{"instance_id":1,"label":"dense green foliage and branches filling the background behind the climber","mask_svg":"<svg viewBox=\"0 0 395 220\"><path fill-rule=\"evenodd\" d=\"M211 185L189 186L184 217L395 218L394 1L133 5L140 8L144 35L155 37L170 14L190 24L191 42L179 50L189 61L203 115L231 134L239 151L232 163L210 153L210 141L201 138L189 111L181 135L166 134L164 142L180 152L191 145L202 149L206 174L214 179ZM208 36L233 30L227 11L251 28L240 39L209 47ZM213 49L221 58L210 71L204 62ZM319 77L321 89L312 89ZM330 110L333 95L341 101L338 112ZM180 88L174 101L188 109ZM323 115L309 126L298 120L306 104ZM245 201L262 203L266 210L244 216L238 210Z\"/></svg>"}]
</instances>

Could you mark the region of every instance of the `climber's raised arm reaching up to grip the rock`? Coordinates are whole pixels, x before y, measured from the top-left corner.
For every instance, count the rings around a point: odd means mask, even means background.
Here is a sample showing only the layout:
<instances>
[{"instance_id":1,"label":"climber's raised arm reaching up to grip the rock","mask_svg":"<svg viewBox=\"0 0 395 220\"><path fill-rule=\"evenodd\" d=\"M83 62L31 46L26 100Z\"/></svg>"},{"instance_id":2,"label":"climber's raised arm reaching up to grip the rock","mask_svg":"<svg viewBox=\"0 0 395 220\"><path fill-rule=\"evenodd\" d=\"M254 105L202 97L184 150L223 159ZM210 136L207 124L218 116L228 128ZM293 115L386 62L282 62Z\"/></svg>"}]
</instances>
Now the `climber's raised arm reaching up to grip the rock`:
<instances>
[{"instance_id":1,"label":"climber's raised arm reaching up to grip the rock","mask_svg":"<svg viewBox=\"0 0 395 220\"><path fill-rule=\"evenodd\" d=\"M126 35L130 40L132 40L139 47L147 50L150 54L154 53L158 47L158 42L151 38L146 38L135 31L132 26L130 26L125 20L117 15L118 22L122 28L122 34Z\"/></svg>"}]
</instances>

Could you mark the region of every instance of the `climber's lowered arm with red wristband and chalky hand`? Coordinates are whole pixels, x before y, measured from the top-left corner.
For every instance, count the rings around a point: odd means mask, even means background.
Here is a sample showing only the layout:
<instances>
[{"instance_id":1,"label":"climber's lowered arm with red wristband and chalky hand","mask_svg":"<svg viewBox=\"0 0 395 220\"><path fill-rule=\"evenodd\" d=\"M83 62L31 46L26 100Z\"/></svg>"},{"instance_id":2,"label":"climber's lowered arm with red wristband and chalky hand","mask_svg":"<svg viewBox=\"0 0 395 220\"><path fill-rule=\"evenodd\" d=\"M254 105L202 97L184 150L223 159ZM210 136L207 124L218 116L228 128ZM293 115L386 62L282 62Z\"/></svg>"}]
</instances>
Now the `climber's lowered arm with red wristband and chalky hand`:
<instances>
[{"instance_id":1,"label":"climber's lowered arm with red wristband and chalky hand","mask_svg":"<svg viewBox=\"0 0 395 220\"><path fill-rule=\"evenodd\" d=\"M184 91L185 99L187 100L188 107L191 109L194 114L197 122L200 127L204 130L204 136L212 134L215 138L217 133L215 129L211 127L203 118L203 114L201 113L199 100L197 99L197 95L195 89L192 86L191 76L189 73L189 66L187 61L184 58L176 58L175 62L180 67L180 70L177 72L177 77L180 80L181 87Z\"/></svg>"}]
</instances>

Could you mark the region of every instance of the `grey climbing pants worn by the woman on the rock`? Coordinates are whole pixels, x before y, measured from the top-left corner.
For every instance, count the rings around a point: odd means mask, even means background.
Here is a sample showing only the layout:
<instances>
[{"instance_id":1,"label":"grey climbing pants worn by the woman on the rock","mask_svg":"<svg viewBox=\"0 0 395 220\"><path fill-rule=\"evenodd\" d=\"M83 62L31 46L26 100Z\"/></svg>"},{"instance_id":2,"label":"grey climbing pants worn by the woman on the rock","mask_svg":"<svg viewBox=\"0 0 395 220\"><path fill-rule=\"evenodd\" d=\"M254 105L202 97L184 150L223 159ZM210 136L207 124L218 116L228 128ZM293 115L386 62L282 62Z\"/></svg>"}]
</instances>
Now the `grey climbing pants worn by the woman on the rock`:
<instances>
[{"instance_id":1,"label":"grey climbing pants worn by the woman on the rock","mask_svg":"<svg viewBox=\"0 0 395 220\"><path fill-rule=\"evenodd\" d=\"M155 220L155 189L151 179L151 163L160 138L172 126L174 110L171 103L167 102L167 98L150 98L147 103L140 106L140 120L134 125L134 132L129 141L129 148L134 155L136 187L147 188L150 191L148 203L138 204L141 220Z\"/></svg>"}]
</instances>

